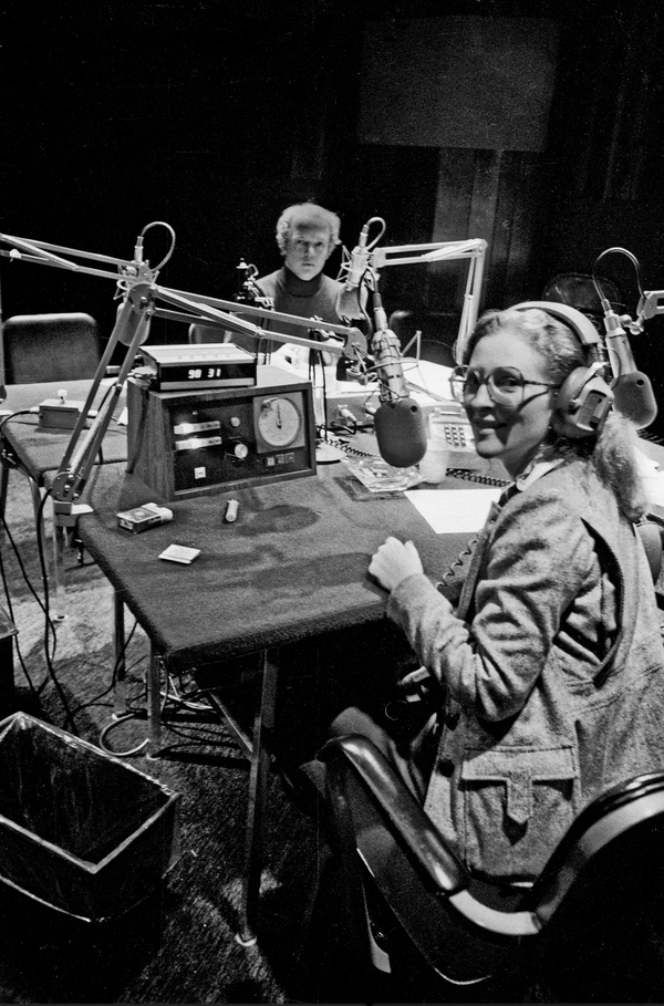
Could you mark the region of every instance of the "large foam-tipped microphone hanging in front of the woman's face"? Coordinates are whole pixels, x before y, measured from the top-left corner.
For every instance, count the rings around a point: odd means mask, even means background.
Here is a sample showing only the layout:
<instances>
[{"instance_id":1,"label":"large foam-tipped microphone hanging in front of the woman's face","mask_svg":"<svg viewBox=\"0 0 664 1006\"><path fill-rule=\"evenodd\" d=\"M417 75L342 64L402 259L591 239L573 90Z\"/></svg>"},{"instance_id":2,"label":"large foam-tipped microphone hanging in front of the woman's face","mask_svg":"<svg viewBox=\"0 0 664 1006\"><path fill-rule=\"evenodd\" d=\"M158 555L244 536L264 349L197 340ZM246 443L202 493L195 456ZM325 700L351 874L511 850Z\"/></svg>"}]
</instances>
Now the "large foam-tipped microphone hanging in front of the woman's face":
<instances>
[{"instance_id":1,"label":"large foam-tipped microphone hanging in front of the woman's face","mask_svg":"<svg viewBox=\"0 0 664 1006\"><path fill-rule=\"evenodd\" d=\"M398 339L387 328L380 293L374 291L376 332L372 352L378 372L381 404L374 414L374 433L383 460L394 468L409 468L426 454L426 426L417 402L408 395Z\"/></svg>"}]
</instances>

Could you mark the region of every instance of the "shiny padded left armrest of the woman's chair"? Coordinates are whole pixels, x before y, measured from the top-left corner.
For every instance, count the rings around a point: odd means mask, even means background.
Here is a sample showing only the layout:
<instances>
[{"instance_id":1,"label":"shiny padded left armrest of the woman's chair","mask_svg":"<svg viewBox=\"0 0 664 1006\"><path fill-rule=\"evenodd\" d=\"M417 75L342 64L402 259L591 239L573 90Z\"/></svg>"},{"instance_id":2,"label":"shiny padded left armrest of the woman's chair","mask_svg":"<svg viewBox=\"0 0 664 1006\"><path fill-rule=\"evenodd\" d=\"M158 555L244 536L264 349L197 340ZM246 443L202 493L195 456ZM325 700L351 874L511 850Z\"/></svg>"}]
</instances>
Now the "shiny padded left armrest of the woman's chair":
<instances>
[{"instance_id":1,"label":"shiny padded left armrest of the woman's chair","mask_svg":"<svg viewBox=\"0 0 664 1006\"><path fill-rule=\"evenodd\" d=\"M468 886L465 868L373 741L360 734L334 737L318 758L325 763L343 759L351 767L437 891L449 896Z\"/></svg>"}]
</instances>

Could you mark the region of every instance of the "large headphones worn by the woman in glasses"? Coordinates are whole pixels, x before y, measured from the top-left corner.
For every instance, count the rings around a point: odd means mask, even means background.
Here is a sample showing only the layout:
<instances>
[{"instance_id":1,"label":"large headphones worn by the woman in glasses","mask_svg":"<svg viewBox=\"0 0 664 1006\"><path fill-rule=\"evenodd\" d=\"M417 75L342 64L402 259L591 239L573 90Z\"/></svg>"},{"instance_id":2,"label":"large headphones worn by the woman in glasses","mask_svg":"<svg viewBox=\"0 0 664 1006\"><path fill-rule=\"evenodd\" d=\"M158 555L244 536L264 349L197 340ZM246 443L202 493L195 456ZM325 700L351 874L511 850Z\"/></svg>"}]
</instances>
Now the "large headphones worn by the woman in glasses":
<instances>
[{"instance_id":1,"label":"large headphones worn by the woman in glasses","mask_svg":"<svg viewBox=\"0 0 664 1006\"><path fill-rule=\"evenodd\" d=\"M549 301L529 300L515 304L513 311L537 308L572 330L583 346L589 364L575 367L558 392L556 418L558 432L573 439L601 433L613 404L613 392L602 377L600 336L594 324L577 308Z\"/></svg>"}]
</instances>

